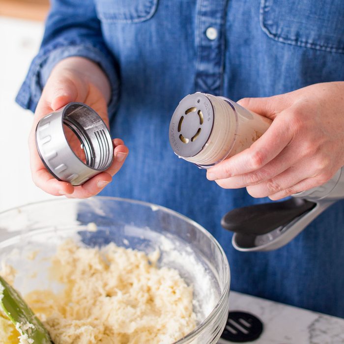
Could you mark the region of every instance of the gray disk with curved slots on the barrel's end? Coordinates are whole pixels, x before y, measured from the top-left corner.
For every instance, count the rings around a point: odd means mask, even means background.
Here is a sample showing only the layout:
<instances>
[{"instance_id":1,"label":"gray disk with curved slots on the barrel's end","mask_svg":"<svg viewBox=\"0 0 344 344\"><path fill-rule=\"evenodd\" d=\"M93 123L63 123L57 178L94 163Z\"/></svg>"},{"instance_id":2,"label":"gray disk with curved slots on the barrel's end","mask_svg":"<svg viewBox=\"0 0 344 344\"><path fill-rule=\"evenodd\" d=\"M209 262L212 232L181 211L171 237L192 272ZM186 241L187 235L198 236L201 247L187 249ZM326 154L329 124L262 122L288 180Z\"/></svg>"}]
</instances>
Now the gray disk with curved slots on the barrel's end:
<instances>
[{"instance_id":1,"label":"gray disk with curved slots on the barrel's end","mask_svg":"<svg viewBox=\"0 0 344 344\"><path fill-rule=\"evenodd\" d=\"M204 93L189 94L175 109L169 130L172 149L180 157L198 154L207 143L214 123L214 109Z\"/></svg>"}]
</instances>

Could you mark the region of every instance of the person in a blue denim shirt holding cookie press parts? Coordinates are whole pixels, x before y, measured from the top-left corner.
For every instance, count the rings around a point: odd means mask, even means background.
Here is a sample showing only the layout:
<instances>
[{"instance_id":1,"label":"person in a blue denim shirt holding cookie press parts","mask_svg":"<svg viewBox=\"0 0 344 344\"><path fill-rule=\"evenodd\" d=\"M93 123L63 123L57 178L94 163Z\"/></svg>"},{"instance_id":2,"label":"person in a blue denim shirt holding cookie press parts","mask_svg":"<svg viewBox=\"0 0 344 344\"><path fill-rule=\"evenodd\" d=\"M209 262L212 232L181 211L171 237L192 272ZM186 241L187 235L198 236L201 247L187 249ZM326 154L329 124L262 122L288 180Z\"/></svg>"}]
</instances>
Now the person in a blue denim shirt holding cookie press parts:
<instances>
[{"instance_id":1,"label":"person in a blue denim shirt holding cookie press parts","mask_svg":"<svg viewBox=\"0 0 344 344\"><path fill-rule=\"evenodd\" d=\"M232 290L344 317L344 201L272 252L235 251L220 226L233 208L318 186L344 165L343 18L340 1L53 0L17 96L35 112L33 181L57 196L172 208L220 242ZM196 91L244 98L273 123L249 149L200 170L168 138L175 107ZM72 101L121 138L113 166L77 187L47 172L34 142L37 121Z\"/></svg>"}]
</instances>

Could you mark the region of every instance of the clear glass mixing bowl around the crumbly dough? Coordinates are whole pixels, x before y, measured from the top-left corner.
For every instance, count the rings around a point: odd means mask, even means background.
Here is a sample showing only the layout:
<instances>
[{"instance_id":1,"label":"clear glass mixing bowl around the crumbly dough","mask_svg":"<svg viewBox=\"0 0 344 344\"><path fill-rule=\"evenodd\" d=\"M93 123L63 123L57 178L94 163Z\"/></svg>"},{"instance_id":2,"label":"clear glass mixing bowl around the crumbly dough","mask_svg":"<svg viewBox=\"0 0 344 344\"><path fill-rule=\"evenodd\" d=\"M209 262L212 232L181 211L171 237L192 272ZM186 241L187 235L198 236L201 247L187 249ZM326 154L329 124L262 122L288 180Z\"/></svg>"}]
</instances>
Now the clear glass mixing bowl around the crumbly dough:
<instances>
[{"instance_id":1,"label":"clear glass mixing bowl around the crumbly dough","mask_svg":"<svg viewBox=\"0 0 344 344\"><path fill-rule=\"evenodd\" d=\"M58 288L49 281L46 258L67 238L89 246L115 242L147 254L158 248L158 265L176 268L194 286L198 326L175 343L217 343L228 315L229 264L219 243L196 222L158 205L109 197L7 210L0 213L0 258L18 272L14 287L23 295ZM34 260L28 259L32 253Z\"/></svg>"}]
</instances>

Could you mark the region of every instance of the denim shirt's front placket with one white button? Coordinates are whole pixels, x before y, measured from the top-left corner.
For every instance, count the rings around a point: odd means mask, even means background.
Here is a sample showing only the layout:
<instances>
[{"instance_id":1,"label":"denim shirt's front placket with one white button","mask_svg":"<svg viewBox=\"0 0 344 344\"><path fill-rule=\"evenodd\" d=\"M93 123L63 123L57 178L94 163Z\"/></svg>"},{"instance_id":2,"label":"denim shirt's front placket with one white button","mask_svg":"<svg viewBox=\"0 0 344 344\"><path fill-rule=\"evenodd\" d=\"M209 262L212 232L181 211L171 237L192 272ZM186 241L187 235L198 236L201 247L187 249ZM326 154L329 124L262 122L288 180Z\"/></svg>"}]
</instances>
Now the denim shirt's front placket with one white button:
<instances>
[{"instance_id":1,"label":"denim shirt's front placket with one white button","mask_svg":"<svg viewBox=\"0 0 344 344\"><path fill-rule=\"evenodd\" d=\"M227 0L198 0L196 91L222 94Z\"/></svg>"}]
</instances>

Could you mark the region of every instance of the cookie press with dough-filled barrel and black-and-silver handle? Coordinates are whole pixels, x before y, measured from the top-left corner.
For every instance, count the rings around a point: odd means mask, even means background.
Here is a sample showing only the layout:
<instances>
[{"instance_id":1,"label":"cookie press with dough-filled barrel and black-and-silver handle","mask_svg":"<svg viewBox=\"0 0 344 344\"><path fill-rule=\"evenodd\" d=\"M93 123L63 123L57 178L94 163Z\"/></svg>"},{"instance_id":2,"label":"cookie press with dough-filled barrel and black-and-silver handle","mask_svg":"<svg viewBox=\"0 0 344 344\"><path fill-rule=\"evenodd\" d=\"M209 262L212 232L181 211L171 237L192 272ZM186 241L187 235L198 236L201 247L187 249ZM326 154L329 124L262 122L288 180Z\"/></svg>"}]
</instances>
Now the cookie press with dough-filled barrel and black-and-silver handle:
<instances>
[{"instance_id":1,"label":"cookie press with dough-filled barrel and black-and-silver handle","mask_svg":"<svg viewBox=\"0 0 344 344\"><path fill-rule=\"evenodd\" d=\"M248 148L270 124L270 119L228 98L197 92L183 98L175 109L169 137L175 154L206 169ZM232 245L239 251L276 250L341 199L344 167L325 184L287 201L233 209L221 225L234 232Z\"/></svg>"}]
</instances>

